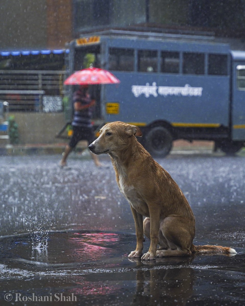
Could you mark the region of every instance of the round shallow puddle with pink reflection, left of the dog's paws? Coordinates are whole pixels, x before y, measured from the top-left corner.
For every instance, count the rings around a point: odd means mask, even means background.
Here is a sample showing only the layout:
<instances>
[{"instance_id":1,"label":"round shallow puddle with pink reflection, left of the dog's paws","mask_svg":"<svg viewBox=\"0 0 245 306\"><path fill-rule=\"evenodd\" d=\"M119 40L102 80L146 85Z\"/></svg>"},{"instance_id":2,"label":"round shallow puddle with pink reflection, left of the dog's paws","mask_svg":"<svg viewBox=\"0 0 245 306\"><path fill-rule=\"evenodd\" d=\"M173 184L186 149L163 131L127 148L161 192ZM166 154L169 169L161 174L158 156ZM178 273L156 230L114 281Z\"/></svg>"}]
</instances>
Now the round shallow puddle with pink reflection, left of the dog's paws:
<instances>
[{"instance_id":1,"label":"round shallow puddle with pink reflection, left of the dog's paws","mask_svg":"<svg viewBox=\"0 0 245 306\"><path fill-rule=\"evenodd\" d=\"M33 247L36 234L4 237L1 242L3 260L22 261L31 265L63 267L76 264L110 262L111 259L127 256L128 245L135 236L100 231L45 232L47 247ZM39 234L40 236L40 234ZM42 237L40 237L42 239Z\"/></svg>"}]
</instances>

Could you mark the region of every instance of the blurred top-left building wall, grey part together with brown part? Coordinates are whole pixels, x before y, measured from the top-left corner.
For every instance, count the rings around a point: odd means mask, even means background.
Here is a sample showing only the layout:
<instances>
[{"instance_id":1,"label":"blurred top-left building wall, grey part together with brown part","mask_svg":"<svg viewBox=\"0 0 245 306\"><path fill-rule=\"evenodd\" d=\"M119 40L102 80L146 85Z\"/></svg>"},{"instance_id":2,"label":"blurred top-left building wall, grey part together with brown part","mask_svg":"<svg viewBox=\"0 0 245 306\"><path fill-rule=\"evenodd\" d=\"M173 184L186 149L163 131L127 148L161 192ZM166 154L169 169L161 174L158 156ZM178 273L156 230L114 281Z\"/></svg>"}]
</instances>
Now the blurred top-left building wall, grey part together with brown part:
<instances>
[{"instance_id":1,"label":"blurred top-left building wall, grey part together with brown part","mask_svg":"<svg viewBox=\"0 0 245 306\"><path fill-rule=\"evenodd\" d=\"M1 0L0 50L62 49L72 40L73 0Z\"/></svg>"}]
</instances>

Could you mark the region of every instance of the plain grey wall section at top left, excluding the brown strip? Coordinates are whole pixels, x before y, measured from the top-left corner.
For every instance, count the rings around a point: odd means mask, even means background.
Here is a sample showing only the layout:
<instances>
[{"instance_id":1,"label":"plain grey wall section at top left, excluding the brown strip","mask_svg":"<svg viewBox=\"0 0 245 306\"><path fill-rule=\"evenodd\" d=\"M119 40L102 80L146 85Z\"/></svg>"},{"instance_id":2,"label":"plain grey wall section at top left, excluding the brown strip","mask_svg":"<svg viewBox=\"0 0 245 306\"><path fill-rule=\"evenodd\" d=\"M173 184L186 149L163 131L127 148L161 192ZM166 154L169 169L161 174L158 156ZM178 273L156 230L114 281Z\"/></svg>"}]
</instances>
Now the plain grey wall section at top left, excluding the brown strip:
<instances>
[{"instance_id":1,"label":"plain grey wall section at top left, excluding the brown strip","mask_svg":"<svg viewBox=\"0 0 245 306\"><path fill-rule=\"evenodd\" d=\"M1 50L45 48L46 0L2 0L0 15Z\"/></svg>"}]
</instances>

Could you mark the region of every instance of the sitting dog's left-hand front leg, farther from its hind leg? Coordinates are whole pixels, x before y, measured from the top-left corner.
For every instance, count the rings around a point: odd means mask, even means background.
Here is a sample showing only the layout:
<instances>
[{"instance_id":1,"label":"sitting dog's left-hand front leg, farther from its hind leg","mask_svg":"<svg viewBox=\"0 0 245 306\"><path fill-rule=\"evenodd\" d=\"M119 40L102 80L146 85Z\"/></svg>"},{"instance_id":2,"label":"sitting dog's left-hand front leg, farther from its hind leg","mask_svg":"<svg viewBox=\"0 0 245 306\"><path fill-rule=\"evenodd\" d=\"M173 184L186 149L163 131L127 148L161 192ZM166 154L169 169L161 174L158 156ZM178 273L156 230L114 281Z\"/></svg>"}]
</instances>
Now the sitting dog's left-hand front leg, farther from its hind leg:
<instances>
[{"instance_id":1,"label":"sitting dog's left-hand front leg, farther from its hind leg","mask_svg":"<svg viewBox=\"0 0 245 306\"><path fill-rule=\"evenodd\" d=\"M136 258L142 255L143 250L143 241L144 241L144 233L143 233L143 216L139 214L133 207L130 205L134 223L135 223L135 230L136 230L136 238L137 238L137 245L135 251L132 251L128 257Z\"/></svg>"}]
</instances>

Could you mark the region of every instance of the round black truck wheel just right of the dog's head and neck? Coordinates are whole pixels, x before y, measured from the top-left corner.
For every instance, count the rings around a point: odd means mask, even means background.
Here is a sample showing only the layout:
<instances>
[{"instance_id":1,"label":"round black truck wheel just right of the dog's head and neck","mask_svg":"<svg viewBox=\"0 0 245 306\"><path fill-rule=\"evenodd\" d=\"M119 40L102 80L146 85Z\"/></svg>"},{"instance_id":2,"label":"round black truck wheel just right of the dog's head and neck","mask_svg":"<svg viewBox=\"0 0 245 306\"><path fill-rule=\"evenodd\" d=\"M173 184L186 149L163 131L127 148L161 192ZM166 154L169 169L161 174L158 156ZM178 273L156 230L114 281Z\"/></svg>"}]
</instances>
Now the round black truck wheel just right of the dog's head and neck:
<instances>
[{"instance_id":1,"label":"round black truck wheel just right of the dog's head and neck","mask_svg":"<svg viewBox=\"0 0 245 306\"><path fill-rule=\"evenodd\" d=\"M165 157L171 151L173 137L163 126L156 126L145 136L145 149L156 157Z\"/></svg>"}]
</instances>

